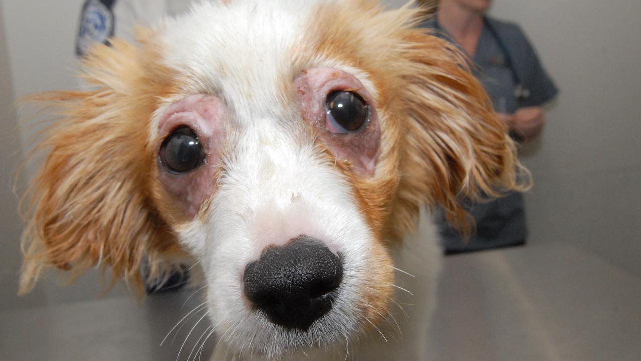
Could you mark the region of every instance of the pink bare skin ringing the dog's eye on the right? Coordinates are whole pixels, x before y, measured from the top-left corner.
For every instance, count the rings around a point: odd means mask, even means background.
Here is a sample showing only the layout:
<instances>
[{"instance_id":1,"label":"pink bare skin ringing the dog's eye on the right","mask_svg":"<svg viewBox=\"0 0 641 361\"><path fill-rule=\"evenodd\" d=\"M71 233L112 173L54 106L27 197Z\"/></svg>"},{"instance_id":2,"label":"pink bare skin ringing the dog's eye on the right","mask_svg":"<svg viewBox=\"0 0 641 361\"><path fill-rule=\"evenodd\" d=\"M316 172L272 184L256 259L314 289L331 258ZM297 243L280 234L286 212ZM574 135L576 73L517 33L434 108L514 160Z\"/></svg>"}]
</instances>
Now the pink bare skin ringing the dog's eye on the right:
<instances>
[{"instance_id":1,"label":"pink bare skin ringing the dog's eye on the right","mask_svg":"<svg viewBox=\"0 0 641 361\"><path fill-rule=\"evenodd\" d=\"M319 67L304 71L296 80L296 89L303 107L303 116L318 131L319 138L339 161L349 161L354 172L372 177L376 168L381 130L374 100L358 79L345 71ZM336 134L328 125L325 100L333 91L353 91L370 107L370 117L360 130Z\"/></svg>"}]
</instances>

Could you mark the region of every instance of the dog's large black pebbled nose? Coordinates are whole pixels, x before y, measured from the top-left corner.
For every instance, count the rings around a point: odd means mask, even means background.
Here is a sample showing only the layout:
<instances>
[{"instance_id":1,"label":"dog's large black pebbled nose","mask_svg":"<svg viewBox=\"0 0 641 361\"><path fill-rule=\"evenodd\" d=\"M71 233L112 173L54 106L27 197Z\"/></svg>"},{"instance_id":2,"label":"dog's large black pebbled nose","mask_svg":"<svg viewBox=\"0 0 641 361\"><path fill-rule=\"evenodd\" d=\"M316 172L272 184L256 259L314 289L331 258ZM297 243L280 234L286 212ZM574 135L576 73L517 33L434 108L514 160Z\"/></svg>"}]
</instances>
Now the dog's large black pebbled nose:
<instances>
[{"instance_id":1,"label":"dog's large black pebbled nose","mask_svg":"<svg viewBox=\"0 0 641 361\"><path fill-rule=\"evenodd\" d=\"M249 301L272 322L306 331L331 309L342 277L338 257L319 240L301 235L267 247L260 260L247 265L243 281Z\"/></svg>"}]
</instances>

